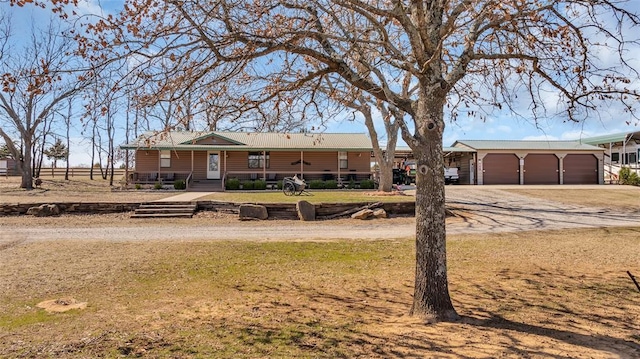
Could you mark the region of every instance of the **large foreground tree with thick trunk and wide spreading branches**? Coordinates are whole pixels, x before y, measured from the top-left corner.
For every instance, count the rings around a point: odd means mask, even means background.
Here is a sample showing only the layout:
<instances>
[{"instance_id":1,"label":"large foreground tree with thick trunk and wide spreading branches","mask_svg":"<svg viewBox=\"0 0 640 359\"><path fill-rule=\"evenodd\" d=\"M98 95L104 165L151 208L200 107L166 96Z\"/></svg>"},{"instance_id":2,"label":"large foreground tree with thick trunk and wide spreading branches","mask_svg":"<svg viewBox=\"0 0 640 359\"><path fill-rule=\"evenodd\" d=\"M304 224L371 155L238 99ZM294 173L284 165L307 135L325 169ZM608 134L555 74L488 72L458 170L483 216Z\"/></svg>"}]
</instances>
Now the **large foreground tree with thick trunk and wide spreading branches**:
<instances>
[{"instance_id":1,"label":"large foreground tree with thick trunk and wide spreading branches","mask_svg":"<svg viewBox=\"0 0 640 359\"><path fill-rule=\"evenodd\" d=\"M617 102L633 121L640 99L633 82L638 80L634 53L628 52L638 45L637 38L628 38L640 23L629 10L633 5L617 0L129 0L120 16L90 30L95 44L117 46L94 48L110 55L138 54L140 65L133 71L160 81L162 92L206 77L209 84L234 88L239 112L271 104L308 114L320 108L313 89L338 78L346 91L406 114L395 120L417 165L411 313L454 320L442 175L445 118L500 111L524 116L518 108L526 101L534 120L562 116L578 122ZM158 61L173 76L147 73Z\"/></svg>"}]
</instances>

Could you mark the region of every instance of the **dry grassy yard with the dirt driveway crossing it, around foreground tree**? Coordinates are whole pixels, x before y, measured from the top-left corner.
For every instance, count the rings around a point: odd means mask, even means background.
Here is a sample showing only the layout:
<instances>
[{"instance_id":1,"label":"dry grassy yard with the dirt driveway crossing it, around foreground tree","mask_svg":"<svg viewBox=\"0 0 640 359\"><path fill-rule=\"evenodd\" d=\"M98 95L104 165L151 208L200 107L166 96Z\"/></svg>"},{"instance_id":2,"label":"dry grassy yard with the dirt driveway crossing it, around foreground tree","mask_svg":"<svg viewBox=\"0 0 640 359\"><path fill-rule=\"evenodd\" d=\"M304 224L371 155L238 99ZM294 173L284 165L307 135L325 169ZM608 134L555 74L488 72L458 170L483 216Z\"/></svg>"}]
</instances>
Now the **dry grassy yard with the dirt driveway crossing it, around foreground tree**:
<instances>
[{"instance_id":1,"label":"dry grassy yard with the dirt driveway crossing it, around foreground tree","mask_svg":"<svg viewBox=\"0 0 640 359\"><path fill-rule=\"evenodd\" d=\"M633 206L480 190L448 189L462 319L430 325L407 316L411 218L0 218L0 357L640 357Z\"/></svg>"}]
</instances>

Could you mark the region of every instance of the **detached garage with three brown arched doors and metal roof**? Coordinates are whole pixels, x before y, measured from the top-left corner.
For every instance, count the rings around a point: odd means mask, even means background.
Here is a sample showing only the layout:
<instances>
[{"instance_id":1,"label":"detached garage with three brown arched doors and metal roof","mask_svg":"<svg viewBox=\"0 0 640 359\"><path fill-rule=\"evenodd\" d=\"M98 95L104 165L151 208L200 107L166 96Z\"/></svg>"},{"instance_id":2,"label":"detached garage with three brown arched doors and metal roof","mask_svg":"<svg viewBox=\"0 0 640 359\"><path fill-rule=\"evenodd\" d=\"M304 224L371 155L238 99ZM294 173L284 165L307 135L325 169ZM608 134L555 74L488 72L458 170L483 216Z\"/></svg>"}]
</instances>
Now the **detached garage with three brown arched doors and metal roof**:
<instances>
[{"instance_id":1,"label":"detached garage with three brown arched doors and metal roof","mask_svg":"<svg viewBox=\"0 0 640 359\"><path fill-rule=\"evenodd\" d=\"M444 147L459 184L602 184L604 149L580 141L460 140ZM398 158L411 158L408 147Z\"/></svg>"}]
</instances>

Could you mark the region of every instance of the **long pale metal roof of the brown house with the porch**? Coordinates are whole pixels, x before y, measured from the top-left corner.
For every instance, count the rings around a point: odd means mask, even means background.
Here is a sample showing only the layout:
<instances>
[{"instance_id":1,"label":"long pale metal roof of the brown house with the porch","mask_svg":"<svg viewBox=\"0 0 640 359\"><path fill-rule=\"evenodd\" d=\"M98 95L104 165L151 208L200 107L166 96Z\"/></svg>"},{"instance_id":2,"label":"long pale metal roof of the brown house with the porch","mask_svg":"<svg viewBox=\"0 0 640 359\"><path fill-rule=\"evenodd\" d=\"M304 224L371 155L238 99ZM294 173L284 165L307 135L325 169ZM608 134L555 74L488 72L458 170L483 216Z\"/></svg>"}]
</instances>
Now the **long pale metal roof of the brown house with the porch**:
<instances>
[{"instance_id":1,"label":"long pale metal roof of the brown house with the porch","mask_svg":"<svg viewBox=\"0 0 640 359\"><path fill-rule=\"evenodd\" d=\"M209 137L231 144L195 144ZM371 140L364 133L261 133L261 132L147 132L122 149L159 150L363 150L370 151Z\"/></svg>"}]
</instances>

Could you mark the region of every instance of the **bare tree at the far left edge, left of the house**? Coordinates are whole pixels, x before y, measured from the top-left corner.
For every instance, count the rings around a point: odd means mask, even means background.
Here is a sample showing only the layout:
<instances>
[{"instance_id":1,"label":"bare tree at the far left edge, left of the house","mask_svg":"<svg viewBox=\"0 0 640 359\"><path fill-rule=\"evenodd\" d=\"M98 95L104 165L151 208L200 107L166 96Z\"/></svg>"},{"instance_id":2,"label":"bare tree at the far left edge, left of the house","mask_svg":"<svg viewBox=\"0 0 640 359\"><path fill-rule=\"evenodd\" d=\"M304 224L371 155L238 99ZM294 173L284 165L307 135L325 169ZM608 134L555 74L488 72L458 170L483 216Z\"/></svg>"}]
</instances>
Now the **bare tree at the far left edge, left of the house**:
<instances>
[{"instance_id":1,"label":"bare tree at the far left edge, left of the house","mask_svg":"<svg viewBox=\"0 0 640 359\"><path fill-rule=\"evenodd\" d=\"M62 36L55 21L43 29L32 28L24 45L13 42L9 22L4 22L0 32L0 38L6 39L0 49L0 136L18 160L21 187L32 189L32 157L39 131L42 133L61 101L81 91L90 75L76 74L80 62L72 55L74 43Z\"/></svg>"}]
</instances>

